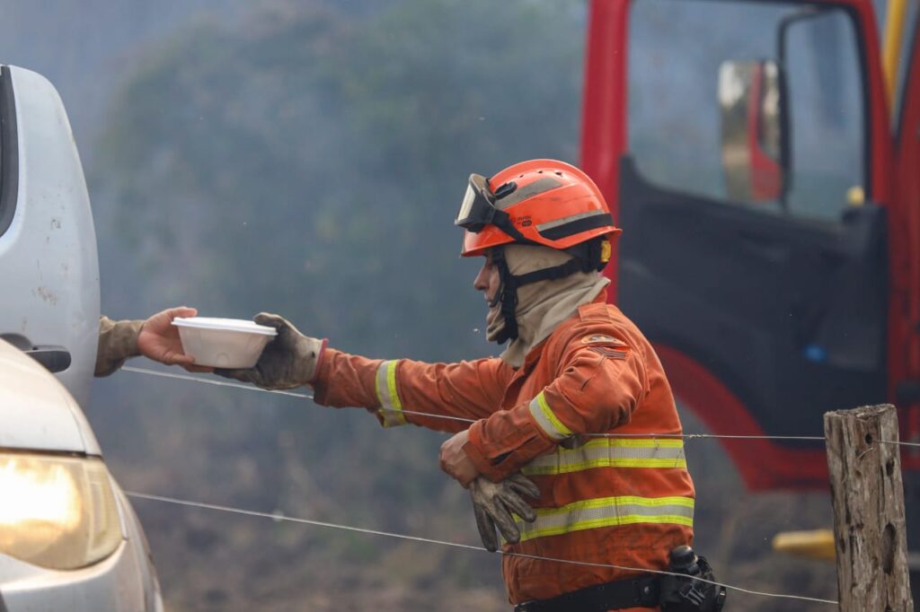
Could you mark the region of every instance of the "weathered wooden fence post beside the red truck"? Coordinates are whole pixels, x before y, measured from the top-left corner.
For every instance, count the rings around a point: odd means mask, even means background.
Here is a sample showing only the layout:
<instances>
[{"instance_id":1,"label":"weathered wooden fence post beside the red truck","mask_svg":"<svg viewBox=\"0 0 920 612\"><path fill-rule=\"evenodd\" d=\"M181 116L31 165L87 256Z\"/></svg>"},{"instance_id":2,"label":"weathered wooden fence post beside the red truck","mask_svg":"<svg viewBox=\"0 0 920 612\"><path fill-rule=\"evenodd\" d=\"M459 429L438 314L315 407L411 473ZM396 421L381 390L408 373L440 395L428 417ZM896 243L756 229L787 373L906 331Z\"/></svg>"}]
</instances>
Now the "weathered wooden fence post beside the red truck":
<instances>
[{"instance_id":1,"label":"weathered wooden fence post beside the red truck","mask_svg":"<svg viewBox=\"0 0 920 612\"><path fill-rule=\"evenodd\" d=\"M894 406L826 413L824 436L841 612L914 612Z\"/></svg>"}]
</instances>

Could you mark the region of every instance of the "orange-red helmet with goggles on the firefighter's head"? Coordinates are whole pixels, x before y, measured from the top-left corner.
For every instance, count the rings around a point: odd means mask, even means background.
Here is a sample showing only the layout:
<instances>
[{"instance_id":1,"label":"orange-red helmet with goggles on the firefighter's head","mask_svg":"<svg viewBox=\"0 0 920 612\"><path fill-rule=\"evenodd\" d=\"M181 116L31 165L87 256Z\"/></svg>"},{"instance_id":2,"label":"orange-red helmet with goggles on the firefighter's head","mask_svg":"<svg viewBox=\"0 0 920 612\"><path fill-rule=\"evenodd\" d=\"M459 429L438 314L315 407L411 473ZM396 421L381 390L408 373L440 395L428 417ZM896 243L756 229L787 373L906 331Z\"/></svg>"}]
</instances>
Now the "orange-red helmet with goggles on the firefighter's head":
<instances>
[{"instance_id":1,"label":"orange-red helmet with goggles on the firefighter's head","mask_svg":"<svg viewBox=\"0 0 920 612\"><path fill-rule=\"evenodd\" d=\"M470 175L454 224L466 230L464 257L510 243L565 250L621 232L591 178L552 159L514 164L488 180ZM609 258L609 247L605 251Z\"/></svg>"}]
</instances>

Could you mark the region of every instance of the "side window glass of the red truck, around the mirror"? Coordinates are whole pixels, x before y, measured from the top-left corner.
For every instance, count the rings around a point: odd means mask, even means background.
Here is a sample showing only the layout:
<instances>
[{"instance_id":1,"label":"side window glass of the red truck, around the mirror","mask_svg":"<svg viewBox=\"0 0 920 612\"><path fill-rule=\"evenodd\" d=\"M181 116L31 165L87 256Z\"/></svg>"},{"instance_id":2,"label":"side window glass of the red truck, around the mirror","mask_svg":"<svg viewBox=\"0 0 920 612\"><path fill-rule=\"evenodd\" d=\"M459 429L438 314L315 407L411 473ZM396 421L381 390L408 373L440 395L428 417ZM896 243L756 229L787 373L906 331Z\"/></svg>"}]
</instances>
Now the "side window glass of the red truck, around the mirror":
<instances>
[{"instance_id":1,"label":"side window glass of the red truck, around the mirror","mask_svg":"<svg viewBox=\"0 0 920 612\"><path fill-rule=\"evenodd\" d=\"M636 0L631 11L629 150L646 180L730 206L819 221L839 221L863 203L866 102L857 30L845 8ZM785 78L786 187L781 195L745 200L730 190L723 169L719 74L726 63L764 61ZM763 125L759 130L764 154L778 156L772 134Z\"/></svg>"}]
</instances>

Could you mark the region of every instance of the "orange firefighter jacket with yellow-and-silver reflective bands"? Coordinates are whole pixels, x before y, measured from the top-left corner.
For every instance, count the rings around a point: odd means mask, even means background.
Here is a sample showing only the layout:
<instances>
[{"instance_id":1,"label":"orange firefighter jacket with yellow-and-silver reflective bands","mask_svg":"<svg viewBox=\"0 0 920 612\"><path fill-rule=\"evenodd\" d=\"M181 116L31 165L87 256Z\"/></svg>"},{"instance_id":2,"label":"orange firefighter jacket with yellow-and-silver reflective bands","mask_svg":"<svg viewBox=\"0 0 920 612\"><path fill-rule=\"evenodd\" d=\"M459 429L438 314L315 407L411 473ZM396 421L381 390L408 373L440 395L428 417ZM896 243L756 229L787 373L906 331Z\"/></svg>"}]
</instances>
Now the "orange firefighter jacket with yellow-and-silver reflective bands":
<instances>
[{"instance_id":1,"label":"orange firefighter jacket with yellow-and-silver reflective bands","mask_svg":"<svg viewBox=\"0 0 920 612\"><path fill-rule=\"evenodd\" d=\"M661 436L681 434L681 425L649 341L604 301L605 291L581 306L519 369L498 358L428 364L327 349L316 402L364 406L385 426L468 426L464 450L480 473L499 481L521 471L540 488L535 522L519 522L521 542L505 552L666 569L668 552L693 539L683 440ZM636 574L512 555L502 564L512 604Z\"/></svg>"}]
</instances>

